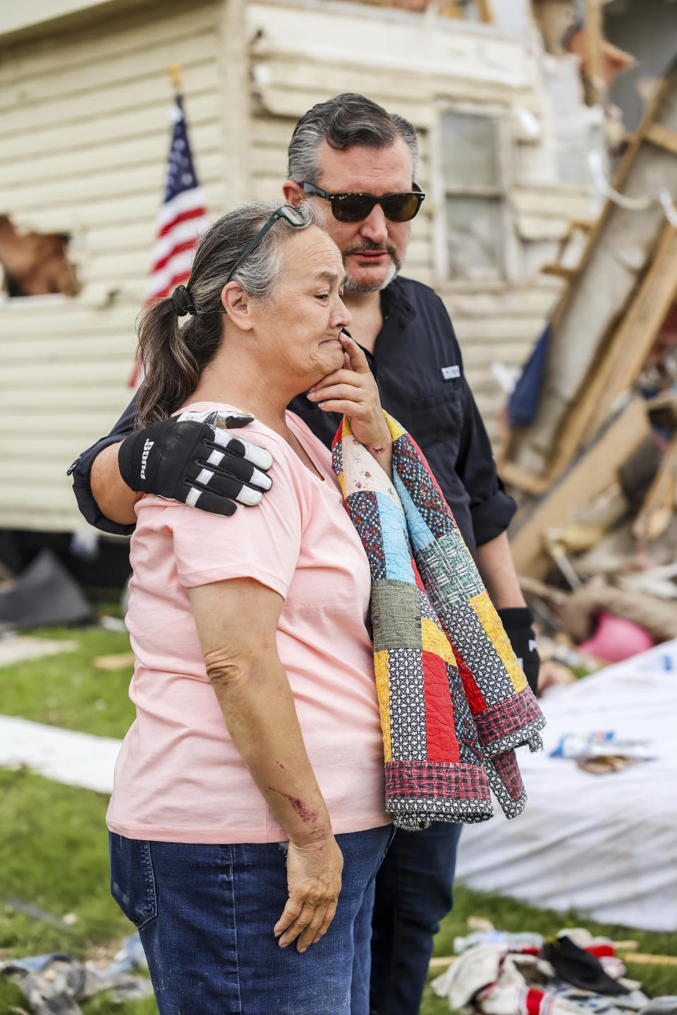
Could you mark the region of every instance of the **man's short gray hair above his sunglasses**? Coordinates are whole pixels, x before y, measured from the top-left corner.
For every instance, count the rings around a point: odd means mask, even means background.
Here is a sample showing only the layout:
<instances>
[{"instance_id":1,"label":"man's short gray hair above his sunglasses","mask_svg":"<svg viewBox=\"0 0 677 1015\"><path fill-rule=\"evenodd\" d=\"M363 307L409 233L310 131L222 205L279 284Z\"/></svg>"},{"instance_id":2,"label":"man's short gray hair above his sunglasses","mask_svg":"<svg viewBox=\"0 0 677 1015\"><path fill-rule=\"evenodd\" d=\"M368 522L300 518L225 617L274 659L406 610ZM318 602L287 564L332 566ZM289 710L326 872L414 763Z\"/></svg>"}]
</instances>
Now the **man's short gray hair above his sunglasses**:
<instances>
[{"instance_id":1,"label":"man's short gray hair above his sunglasses","mask_svg":"<svg viewBox=\"0 0 677 1015\"><path fill-rule=\"evenodd\" d=\"M330 148L346 151L354 144L388 148L401 137L409 145L413 180L418 172L418 139L408 120L388 113L383 106L354 91L318 103L294 128L289 142L289 180L317 184L321 168L318 149L323 141Z\"/></svg>"}]
</instances>

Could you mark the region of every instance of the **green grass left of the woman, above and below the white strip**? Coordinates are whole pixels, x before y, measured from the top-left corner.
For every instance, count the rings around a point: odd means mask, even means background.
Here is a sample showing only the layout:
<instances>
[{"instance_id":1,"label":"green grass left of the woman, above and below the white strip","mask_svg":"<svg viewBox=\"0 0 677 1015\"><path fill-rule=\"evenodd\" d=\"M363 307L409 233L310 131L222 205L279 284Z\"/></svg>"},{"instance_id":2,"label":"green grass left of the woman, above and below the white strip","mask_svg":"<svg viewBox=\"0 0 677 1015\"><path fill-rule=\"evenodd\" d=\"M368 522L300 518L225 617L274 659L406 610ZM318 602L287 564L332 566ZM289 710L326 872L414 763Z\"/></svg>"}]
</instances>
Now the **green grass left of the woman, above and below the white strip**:
<instances>
[{"instance_id":1,"label":"green grass left of the woman, above and below the white strip","mask_svg":"<svg viewBox=\"0 0 677 1015\"><path fill-rule=\"evenodd\" d=\"M129 635L94 627L31 633L74 640L78 649L0 668L0 714L124 737L134 719L128 696L132 668L98 670L92 660L129 652ZM0 958L49 951L82 958L101 947L113 954L133 930L109 889L107 807L108 798L98 794L0 769ZM74 912L77 922L60 930L6 905L8 897L59 918ZM25 1008L25 1002L0 977L0 1015L14 1007ZM96 997L84 1006L87 1015L156 1010L152 998L121 1006Z\"/></svg>"}]
</instances>

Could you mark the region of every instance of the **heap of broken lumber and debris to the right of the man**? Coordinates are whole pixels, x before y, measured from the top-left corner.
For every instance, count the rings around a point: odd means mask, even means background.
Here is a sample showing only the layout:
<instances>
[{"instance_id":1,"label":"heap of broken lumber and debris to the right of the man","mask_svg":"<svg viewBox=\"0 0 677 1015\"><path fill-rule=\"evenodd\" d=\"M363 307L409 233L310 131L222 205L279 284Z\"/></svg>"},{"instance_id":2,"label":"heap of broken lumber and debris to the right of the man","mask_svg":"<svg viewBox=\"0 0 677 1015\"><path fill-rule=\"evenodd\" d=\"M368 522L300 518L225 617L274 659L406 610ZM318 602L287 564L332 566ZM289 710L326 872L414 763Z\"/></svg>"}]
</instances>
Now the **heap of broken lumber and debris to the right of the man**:
<instances>
[{"instance_id":1,"label":"heap of broken lumber and debris to the right of the man","mask_svg":"<svg viewBox=\"0 0 677 1015\"><path fill-rule=\"evenodd\" d=\"M547 268L566 286L509 403L498 469L525 594L557 635L546 662L562 641L585 669L677 636L676 196L677 65L580 263Z\"/></svg>"}]
</instances>

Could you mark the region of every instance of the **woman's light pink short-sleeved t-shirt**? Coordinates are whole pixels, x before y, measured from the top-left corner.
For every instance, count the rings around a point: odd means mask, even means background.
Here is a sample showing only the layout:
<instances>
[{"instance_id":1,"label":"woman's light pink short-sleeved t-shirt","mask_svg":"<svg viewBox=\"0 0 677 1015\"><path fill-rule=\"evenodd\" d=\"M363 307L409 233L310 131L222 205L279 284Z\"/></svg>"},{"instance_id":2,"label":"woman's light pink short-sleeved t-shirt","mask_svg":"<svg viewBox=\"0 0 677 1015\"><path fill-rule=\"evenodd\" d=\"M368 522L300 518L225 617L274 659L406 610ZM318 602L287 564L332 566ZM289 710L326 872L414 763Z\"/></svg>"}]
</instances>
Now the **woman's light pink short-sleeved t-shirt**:
<instances>
[{"instance_id":1,"label":"woman's light pink short-sleeved t-shirt","mask_svg":"<svg viewBox=\"0 0 677 1015\"><path fill-rule=\"evenodd\" d=\"M136 720L116 765L107 818L114 832L172 842L287 837L228 736L187 592L235 578L254 578L284 597L277 648L334 832L389 821L365 627L368 563L330 453L296 416L288 413L287 422L324 481L256 421L247 437L274 458L273 485L258 506L222 518L156 496L137 504L127 615Z\"/></svg>"}]
</instances>

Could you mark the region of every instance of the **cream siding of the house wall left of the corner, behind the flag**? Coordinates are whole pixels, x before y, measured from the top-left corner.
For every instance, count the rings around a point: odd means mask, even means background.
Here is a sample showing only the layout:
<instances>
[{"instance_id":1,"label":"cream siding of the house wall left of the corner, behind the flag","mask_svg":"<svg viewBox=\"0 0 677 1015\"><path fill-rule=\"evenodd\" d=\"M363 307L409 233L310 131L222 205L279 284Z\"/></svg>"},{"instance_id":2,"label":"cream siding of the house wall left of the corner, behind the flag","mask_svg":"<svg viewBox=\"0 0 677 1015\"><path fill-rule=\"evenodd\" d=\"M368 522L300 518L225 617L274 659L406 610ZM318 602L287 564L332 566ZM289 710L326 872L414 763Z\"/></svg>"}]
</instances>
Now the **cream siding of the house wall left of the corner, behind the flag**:
<instances>
[{"instance_id":1,"label":"cream siding of the house wall left of the corner, behind the flag","mask_svg":"<svg viewBox=\"0 0 677 1015\"><path fill-rule=\"evenodd\" d=\"M218 30L217 3L162 4L1 54L0 211L24 227L70 232L83 288L74 299L0 303L0 527L78 525L66 469L129 401L171 62L183 68L210 210L223 202Z\"/></svg>"}]
</instances>

